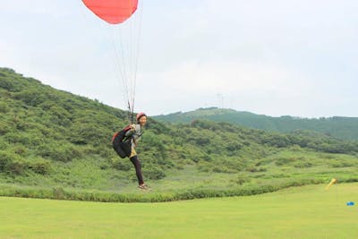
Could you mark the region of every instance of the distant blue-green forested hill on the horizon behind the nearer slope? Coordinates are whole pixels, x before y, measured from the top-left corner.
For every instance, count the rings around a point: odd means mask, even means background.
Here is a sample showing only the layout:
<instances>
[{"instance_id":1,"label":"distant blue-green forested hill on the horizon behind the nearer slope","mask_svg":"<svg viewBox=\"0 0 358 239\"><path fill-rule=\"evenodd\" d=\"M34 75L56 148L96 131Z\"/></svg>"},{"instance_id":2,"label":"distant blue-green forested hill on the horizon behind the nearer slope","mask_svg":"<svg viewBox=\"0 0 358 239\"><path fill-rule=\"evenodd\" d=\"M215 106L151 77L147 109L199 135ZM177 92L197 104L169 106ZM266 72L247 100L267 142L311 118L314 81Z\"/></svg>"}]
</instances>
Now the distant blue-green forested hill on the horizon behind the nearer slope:
<instances>
[{"instance_id":1,"label":"distant blue-green forested hill on the horizon behind the nearer slope","mask_svg":"<svg viewBox=\"0 0 358 239\"><path fill-rule=\"evenodd\" d=\"M271 132L293 132L295 130L321 132L339 139L358 141L358 117L301 118L293 116L271 117L250 112L222 109L217 107L200 108L191 112L178 112L155 116L157 120L171 123L190 123L194 119L239 124L253 129Z\"/></svg>"}]
</instances>

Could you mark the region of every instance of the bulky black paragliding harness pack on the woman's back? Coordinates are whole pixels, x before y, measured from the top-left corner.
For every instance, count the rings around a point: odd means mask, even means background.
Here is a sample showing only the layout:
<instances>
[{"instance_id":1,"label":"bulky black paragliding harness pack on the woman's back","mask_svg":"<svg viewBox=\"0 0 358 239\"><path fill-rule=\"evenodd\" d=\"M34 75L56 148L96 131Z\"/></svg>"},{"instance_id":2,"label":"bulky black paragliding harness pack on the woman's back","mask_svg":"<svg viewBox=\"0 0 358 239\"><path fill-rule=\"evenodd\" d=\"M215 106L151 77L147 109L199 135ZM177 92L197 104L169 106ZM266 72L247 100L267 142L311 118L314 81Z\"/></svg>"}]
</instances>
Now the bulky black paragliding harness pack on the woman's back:
<instances>
[{"instance_id":1,"label":"bulky black paragliding harness pack on the woman's back","mask_svg":"<svg viewBox=\"0 0 358 239\"><path fill-rule=\"evenodd\" d=\"M112 137L113 149L119 157L130 157L132 151L132 136L125 136L125 133L131 130L131 126L125 127L122 131L116 132Z\"/></svg>"}]
</instances>

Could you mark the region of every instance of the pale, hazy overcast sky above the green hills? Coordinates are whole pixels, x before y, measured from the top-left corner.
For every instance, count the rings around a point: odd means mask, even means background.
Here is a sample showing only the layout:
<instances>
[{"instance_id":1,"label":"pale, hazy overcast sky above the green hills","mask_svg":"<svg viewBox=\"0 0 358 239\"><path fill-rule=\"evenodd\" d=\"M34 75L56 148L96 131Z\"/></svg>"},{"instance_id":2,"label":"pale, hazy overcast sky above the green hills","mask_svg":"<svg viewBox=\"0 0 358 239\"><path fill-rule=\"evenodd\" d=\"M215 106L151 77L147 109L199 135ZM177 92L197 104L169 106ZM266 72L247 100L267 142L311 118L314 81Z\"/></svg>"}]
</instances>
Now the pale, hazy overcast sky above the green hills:
<instances>
[{"instance_id":1,"label":"pale, hazy overcast sky above the green hills","mask_svg":"<svg viewBox=\"0 0 358 239\"><path fill-rule=\"evenodd\" d=\"M358 116L358 1L141 3L136 111ZM0 67L125 108L112 27L80 0L0 0Z\"/></svg>"}]
</instances>

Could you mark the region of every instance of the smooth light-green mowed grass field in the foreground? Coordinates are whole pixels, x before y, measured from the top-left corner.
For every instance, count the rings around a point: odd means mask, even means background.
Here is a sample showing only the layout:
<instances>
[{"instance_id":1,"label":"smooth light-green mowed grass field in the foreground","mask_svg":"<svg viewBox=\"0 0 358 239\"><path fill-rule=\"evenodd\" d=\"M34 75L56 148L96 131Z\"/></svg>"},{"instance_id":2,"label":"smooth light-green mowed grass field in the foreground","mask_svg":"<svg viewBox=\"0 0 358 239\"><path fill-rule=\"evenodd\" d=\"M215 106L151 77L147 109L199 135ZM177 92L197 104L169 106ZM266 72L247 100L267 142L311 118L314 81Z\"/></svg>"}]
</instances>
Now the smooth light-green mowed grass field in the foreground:
<instances>
[{"instance_id":1,"label":"smooth light-green mowed grass field in the foreground","mask_svg":"<svg viewBox=\"0 0 358 239\"><path fill-rule=\"evenodd\" d=\"M0 238L357 238L358 184L163 203L0 198Z\"/></svg>"}]
</instances>

